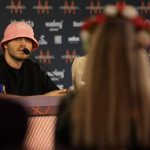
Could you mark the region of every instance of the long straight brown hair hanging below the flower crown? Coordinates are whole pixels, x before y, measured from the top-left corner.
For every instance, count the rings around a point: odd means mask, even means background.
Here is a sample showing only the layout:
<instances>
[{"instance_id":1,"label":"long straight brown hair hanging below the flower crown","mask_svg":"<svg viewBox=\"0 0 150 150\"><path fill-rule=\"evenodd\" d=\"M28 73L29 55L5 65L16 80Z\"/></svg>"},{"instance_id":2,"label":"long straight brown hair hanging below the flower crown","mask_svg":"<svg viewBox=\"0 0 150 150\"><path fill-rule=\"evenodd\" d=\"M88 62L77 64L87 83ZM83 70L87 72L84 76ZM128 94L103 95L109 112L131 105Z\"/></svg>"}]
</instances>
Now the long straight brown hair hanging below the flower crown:
<instances>
[{"instance_id":1,"label":"long straight brown hair hanging below the flower crown","mask_svg":"<svg viewBox=\"0 0 150 150\"><path fill-rule=\"evenodd\" d=\"M124 148L134 140L149 145L149 65L136 34L121 18L97 27L87 85L72 109L74 145Z\"/></svg>"}]
</instances>

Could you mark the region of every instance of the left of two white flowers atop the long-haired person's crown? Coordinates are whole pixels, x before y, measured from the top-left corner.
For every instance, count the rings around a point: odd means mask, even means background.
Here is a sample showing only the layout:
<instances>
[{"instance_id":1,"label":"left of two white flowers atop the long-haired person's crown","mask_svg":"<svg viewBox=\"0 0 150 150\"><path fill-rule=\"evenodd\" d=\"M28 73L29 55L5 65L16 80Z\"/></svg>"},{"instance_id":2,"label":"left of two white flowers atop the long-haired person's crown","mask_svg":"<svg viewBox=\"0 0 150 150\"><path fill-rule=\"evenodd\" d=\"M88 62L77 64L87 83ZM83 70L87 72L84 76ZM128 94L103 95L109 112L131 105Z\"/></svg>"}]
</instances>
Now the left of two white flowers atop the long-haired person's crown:
<instances>
[{"instance_id":1,"label":"left of two white flowers atop the long-haired person's crown","mask_svg":"<svg viewBox=\"0 0 150 150\"><path fill-rule=\"evenodd\" d=\"M104 13L110 17L114 17L118 13L118 9L114 5L107 5L104 9Z\"/></svg>"}]
</instances>

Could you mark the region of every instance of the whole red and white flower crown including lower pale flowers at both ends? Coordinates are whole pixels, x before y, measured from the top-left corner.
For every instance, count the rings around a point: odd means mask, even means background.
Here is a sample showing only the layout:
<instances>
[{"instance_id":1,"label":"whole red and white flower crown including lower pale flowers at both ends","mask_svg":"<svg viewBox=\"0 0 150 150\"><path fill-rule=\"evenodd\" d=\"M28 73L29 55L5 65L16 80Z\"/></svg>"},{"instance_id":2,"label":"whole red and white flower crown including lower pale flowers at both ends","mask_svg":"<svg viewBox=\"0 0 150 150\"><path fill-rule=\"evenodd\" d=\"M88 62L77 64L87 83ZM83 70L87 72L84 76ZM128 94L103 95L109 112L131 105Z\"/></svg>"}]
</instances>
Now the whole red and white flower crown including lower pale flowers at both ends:
<instances>
[{"instance_id":1,"label":"whole red and white flower crown including lower pale flowers at both ends","mask_svg":"<svg viewBox=\"0 0 150 150\"><path fill-rule=\"evenodd\" d=\"M150 23L139 16L135 7L125 4L107 5L104 8L103 14L91 17L86 20L81 27L81 38L84 41L90 37L90 33L96 26L104 24L109 18L120 16L131 22L137 29L137 41L144 47L150 45ZM148 31L148 32L147 32Z\"/></svg>"}]
</instances>

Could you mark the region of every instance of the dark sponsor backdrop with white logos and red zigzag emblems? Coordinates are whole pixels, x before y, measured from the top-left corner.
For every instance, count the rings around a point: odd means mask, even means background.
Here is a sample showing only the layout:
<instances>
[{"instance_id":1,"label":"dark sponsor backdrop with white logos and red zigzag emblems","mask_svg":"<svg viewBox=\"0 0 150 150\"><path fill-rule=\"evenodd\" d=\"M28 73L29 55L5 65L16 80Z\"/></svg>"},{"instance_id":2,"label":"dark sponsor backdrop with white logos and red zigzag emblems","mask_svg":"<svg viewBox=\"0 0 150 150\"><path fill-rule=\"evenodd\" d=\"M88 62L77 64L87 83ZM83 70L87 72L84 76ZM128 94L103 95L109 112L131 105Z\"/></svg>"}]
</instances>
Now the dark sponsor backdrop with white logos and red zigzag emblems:
<instances>
[{"instance_id":1,"label":"dark sponsor backdrop with white logos and red zigzag emblems","mask_svg":"<svg viewBox=\"0 0 150 150\"><path fill-rule=\"evenodd\" d=\"M0 39L10 22L29 23L40 44L32 55L47 68L48 75L60 88L64 85L50 72L63 80L66 87L72 85L73 59L84 55L79 31L86 17L100 14L106 4L119 2L136 6L148 19L150 13L150 0L0 0L0 2Z\"/></svg>"}]
</instances>

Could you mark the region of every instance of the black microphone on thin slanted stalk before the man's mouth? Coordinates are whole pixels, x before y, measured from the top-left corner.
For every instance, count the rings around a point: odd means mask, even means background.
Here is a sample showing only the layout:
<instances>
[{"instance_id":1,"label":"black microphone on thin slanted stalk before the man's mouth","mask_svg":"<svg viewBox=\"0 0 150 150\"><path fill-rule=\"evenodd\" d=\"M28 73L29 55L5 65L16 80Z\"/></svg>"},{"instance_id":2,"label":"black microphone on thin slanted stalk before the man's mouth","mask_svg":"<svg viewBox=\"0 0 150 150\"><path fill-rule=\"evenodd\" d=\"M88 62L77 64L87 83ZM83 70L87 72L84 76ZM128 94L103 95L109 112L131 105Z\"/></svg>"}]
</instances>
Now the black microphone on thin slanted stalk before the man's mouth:
<instances>
[{"instance_id":1,"label":"black microphone on thin slanted stalk before the man's mouth","mask_svg":"<svg viewBox=\"0 0 150 150\"><path fill-rule=\"evenodd\" d=\"M31 52L27 49L27 48L24 48L23 49L23 52L24 54L26 55L29 55L31 56L31 58L33 58L39 65L41 65L45 70L48 70L56 79L58 79L64 86L64 88L67 89L67 86L66 84L63 82L63 80L61 80L60 78L58 78L52 71L49 70L49 68L47 68L45 65L43 65L38 59L34 58L32 55L31 55Z\"/></svg>"}]
</instances>

